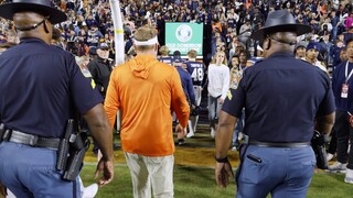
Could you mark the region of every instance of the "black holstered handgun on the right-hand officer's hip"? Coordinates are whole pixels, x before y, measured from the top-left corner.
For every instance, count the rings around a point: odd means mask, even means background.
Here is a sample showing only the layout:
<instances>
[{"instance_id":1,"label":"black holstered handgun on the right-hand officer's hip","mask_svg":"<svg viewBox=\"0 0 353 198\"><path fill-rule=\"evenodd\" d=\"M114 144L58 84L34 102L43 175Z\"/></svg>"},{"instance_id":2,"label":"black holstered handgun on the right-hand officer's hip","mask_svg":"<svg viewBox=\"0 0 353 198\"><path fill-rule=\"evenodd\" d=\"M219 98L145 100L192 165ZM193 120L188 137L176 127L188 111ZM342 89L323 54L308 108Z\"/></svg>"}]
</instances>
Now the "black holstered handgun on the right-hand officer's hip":
<instances>
[{"instance_id":1,"label":"black holstered handgun on the right-hand officer's hip","mask_svg":"<svg viewBox=\"0 0 353 198\"><path fill-rule=\"evenodd\" d=\"M313 132L311 139L311 146L317 157L317 167L320 169L328 169L328 155L324 147L324 138L319 131Z\"/></svg>"}]
</instances>

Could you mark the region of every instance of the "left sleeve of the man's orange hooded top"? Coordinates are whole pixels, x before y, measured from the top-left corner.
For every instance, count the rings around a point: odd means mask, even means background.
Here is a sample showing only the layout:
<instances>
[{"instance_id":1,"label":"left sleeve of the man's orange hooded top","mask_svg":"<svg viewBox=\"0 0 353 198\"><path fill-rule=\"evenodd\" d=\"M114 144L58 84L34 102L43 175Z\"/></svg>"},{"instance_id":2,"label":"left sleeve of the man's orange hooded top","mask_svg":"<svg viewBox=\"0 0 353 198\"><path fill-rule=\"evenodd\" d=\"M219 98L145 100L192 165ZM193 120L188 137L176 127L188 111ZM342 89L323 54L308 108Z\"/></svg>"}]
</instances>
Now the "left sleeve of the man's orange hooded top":
<instances>
[{"instance_id":1,"label":"left sleeve of the man's orange hooded top","mask_svg":"<svg viewBox=\"0 0 353 198\"><path fill-rule=\"evenodd\" d=\"M117 67L110 75L110 80L107 89L107 95L104 103L104 108L107 112L110 128L114 128L114 123L117 117L117 111L120 109L119 89L118 89L118 70Z\"/></svg>"}]
</instances>

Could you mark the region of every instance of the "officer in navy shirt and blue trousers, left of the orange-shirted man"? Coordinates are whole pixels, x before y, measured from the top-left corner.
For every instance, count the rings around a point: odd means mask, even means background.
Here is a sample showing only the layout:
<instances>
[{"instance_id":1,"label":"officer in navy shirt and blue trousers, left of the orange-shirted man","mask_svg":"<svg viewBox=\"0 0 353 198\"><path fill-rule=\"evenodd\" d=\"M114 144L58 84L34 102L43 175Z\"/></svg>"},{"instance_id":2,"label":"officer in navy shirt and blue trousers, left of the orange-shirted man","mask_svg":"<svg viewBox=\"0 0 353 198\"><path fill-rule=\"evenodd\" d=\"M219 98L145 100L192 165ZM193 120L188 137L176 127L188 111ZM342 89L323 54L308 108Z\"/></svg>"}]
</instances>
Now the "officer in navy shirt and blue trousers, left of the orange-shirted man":
<instances>
[{"instance_id":1,"label":"officer in navy shirt and blue trousers, left of the orange-shirted man","mask_svg":"<svg viewBox=\"0 0 353 198\"><path fill-rule=\"evenodd\" d=\"M108 184L113 136L103 97L74 55L50 44L53 24L65 21L65 13L50 0L13 0L0 4L0 16L13 20L20 37L0 56L0 189L17 197L79 197L78 177L63 180L55 167L65 125L76 113L101 148L98 184Z\"/></svg>"}]
</instances>

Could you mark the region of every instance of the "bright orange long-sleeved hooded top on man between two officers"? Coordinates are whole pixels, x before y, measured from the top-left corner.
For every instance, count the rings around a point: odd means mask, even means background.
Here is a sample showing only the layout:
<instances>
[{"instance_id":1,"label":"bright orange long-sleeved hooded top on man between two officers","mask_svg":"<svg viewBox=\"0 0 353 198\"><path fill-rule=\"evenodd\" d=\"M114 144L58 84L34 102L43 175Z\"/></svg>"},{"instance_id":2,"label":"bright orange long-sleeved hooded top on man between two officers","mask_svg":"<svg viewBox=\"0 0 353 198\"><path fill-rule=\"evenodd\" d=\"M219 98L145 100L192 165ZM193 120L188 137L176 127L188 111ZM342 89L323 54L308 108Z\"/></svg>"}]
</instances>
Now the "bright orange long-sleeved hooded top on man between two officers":
<instances>
[{"instance_id":1,"label":"bright orange long-sleeved hooded top on man between two officers","mask_svg":"<svg viewBox=\"0 0 353 198\"><path fill-rule=\"evenodd\" d=\"M138 55L114 68L104 106L111 129L121 110L124 152L145 156L173 154L171 112L183 128L190 113L176 69L152 55Z\"/></svg>"}]
</instances>

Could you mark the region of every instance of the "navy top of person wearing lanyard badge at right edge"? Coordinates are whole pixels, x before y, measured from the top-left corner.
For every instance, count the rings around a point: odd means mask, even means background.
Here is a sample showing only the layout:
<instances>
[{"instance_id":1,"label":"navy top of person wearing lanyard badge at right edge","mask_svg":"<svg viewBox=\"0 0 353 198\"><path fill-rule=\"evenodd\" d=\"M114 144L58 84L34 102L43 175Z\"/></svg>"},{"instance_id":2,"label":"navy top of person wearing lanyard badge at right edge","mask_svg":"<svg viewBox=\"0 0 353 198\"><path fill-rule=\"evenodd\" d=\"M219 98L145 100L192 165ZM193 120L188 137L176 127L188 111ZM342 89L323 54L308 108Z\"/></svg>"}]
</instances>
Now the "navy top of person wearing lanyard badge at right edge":
<instances>
[{"instance_id":1,"label":"navy top of person wearing lanyard badge at right edge","mask_svg":"<svg viewBox=\"0 0 353 198\"><path fill-rule=\"evenodd\" d=\"M345 77L345 67L347 67L347 77L353 69L353 63L342 62L332 73L332 89L338 110L350 111L353 113L353 75L347 79ZM353 73L353 72L352 72ZM347 97L341 97L343 84L349 85Z\"/></svg>"}]
</instances>

